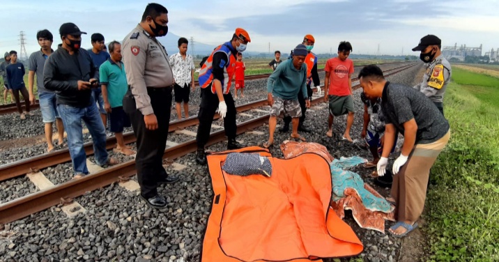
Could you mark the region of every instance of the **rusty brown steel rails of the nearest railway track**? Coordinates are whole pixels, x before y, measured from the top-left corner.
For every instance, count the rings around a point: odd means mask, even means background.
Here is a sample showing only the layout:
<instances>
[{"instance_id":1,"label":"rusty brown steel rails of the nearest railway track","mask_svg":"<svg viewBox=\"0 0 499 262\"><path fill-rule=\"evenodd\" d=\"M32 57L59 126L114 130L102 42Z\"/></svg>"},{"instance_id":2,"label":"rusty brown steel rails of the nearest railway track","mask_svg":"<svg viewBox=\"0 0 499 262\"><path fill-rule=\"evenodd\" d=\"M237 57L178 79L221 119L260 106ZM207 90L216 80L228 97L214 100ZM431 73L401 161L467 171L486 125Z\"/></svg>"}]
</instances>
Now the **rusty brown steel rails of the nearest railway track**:
<instances>
[{"instance_id":1,"label":"rusty brown steel rails of the nearest railway track","mask_svg":"<svg viewBox=\"0 0 499 262\"><path fill-rule=\"evenodd\" d=\"M399 68L394 68L392 70L385 70L385 76L387 77L397 74L398 72L416 65L417 63L411 63ZM353 81L356 80L357 79L353 79ZM360 88L360 85L357 84L353 86L353 88ZM322 101L322 96L316 96L312 100L312 105L316 105L318 103L321 103ZM237 110L240 112L247 111L255 109L257 107L262 107L266 105L266 103L266 100L259 100L246 105L241 105L237 108ZM268 116L268 114L265 114L263 116L258 116L249 121L240 123L238 125L237 134L242 134L263 125L268 121ZM216 118L220 118L220 116L216 115L215 119ZM183 121L172 122L170 124L169 131L172 132L174 130L181 130L192 125L196 125L197 123L197 118L195 117L187 118ZM224 139L224 130L213 132L210 134L210 139L206 146L216 144L220 141L223 141ZM133 141L135 141L135 137L133 137L132 133L125 134L125 141L127 141L128 143L132 143ZM116 140L114 137L107 139L107 148L112 148L115 143ZM93 153L93 146L91 143L85 144L85 149L87 155ZM192 153L196 151L196 149L196 140L190 139L181 144L177 144L175 146L167 148L164 151L163 157L168 157L169 159L174 160L178 157L187 155L188 153ZM70 156L68 150L66 149L56 151L54 153L47 153L37 157L31 157L29 159L13 162L11 164L6 164L0 167L0 181L9 178L15 178L29 172L38 171L38 169L52 167L55 164L60 164L68 161L70 161ZM70 180L59 185L52 185L45 190L29 194L20 199L15 199L13 201L3 203L0 205L0 226L2 224L13 222L17 219L21 219L22 217L26 217L33 213L37 213L41 210L45 210L47 208L50 208L51 206L56 206L61 203L61 201L65 203L71 202L71 199L74 199L77 196L81 196L86 192L96 190L106 185L110 185L118 180L127 180L135 174L135 160L130 160L128 162L118 164L114 167L109 167L107 169L103 169L102 171L97 171L95 174L90 174L89 176L86 176L82 179Z\"/></svg>"}]
</instances>

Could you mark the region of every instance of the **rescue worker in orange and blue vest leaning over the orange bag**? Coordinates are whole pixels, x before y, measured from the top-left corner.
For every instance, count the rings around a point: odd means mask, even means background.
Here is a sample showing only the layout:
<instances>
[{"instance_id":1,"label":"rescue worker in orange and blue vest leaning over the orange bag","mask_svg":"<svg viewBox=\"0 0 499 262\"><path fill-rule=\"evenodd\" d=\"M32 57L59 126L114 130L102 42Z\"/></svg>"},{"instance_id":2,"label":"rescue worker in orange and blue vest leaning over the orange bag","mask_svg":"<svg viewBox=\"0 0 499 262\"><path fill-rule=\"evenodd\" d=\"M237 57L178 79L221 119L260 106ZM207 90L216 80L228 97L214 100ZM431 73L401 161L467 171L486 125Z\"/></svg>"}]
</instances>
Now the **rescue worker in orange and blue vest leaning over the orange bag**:
<instances>
[{"instance_id":1,"label":"rescue worker in orange and blue vest leaning over the orange bag","mask_svg":"<svg viewBox=\"0 0 499 262\"><path fill-rule=\"evenodd\" d=\"M236 105L230 93L231 79L236 71L238 52L244 52L247 43L251 42L245 29L237 28L232 39L219 45L208 56L199 71L199 86L201 86L201 105L199 106L199 126L197 128L198 164L206 164L204 146L210 138L211 123L215 111L224 118L224 129L227 138L227 149L233 150L244 146L236 141Z\"/></svg>"}]
</instances>

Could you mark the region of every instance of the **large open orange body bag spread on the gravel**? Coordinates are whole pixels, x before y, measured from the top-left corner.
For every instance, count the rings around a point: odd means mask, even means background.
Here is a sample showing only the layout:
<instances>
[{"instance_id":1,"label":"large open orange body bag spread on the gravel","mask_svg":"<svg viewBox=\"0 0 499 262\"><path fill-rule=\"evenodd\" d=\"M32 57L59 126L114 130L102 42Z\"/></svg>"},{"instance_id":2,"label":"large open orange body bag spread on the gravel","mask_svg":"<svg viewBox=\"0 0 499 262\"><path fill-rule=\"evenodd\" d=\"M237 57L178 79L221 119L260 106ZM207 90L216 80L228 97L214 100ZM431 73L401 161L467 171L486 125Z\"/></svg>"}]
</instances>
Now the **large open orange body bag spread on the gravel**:
<instances>
[{"instance_id":1,"label":"large open orange body bag spread on the gravel","mask_svg":"<svg viewBox=\"0 0 499 262\"><path fill-rule=\"evenodd\" d=\"M225 173L230 152L268 157L272 175ZM351 227L329 208L331 176L323 157L281 160L251 147L208 155L208 169L214 199L202 261L310 261L362 252Z\"/></svg>"}]
</instances>

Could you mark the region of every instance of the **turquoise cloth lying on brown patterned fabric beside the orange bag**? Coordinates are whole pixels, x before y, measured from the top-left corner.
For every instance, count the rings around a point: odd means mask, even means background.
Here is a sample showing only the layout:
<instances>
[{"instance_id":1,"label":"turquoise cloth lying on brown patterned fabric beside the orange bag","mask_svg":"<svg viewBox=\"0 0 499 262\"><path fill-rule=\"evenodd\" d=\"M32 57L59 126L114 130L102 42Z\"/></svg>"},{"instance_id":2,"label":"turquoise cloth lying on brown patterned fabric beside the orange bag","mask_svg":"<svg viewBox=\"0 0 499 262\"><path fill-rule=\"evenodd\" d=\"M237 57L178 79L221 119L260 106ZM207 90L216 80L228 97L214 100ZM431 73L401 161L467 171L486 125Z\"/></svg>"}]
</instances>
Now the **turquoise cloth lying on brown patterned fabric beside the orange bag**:
<instances>
[{"instance_id":1,"label":"turquoise cloth lying on brown patterned fabric beside the orange bag","mask_svg":"<svg viewBox=\"0 0 499 262\"><path fill-rule=\"evenodd\" d=\"M364 180L359 174L344 170L348 167L355 167L358 164L367 162L362 157L341 157L339 160L335 159L330 164L331 177L332 177L332 199L337 201L345 197L344 191L346 188L351 187L362 199L362 204L371 211L381 211L384 213L392 212L392 206L385 199L380 199L371 192L364 188Z\"/></svg>"}]
</instances>

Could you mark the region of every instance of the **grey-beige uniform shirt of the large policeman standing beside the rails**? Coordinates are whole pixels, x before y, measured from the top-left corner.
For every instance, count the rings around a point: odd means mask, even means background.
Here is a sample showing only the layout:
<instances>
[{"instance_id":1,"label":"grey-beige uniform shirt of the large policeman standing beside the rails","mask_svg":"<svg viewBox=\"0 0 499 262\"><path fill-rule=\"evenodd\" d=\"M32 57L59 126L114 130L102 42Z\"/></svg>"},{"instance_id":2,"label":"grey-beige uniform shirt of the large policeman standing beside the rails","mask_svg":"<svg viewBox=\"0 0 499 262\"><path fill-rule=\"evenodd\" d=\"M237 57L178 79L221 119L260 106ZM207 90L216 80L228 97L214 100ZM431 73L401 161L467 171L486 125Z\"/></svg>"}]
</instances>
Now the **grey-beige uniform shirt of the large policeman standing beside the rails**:
<instances>
[{"instance_id":1,"label":"grey-beige uniform shirt of the large policeman standing beside the rails","mask_svg":"<svg viewBox=\"0 0 499 262\"><path fill-rule=\"evenodd\" d=\"M164 88L174 84L167 50L139 24L125 36L121 54L137 109L144 116L154 114L147 88Z\"/></svg>"}]
</instances>

